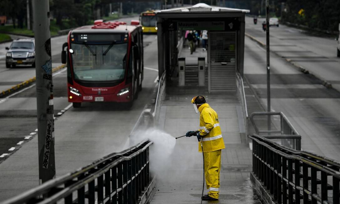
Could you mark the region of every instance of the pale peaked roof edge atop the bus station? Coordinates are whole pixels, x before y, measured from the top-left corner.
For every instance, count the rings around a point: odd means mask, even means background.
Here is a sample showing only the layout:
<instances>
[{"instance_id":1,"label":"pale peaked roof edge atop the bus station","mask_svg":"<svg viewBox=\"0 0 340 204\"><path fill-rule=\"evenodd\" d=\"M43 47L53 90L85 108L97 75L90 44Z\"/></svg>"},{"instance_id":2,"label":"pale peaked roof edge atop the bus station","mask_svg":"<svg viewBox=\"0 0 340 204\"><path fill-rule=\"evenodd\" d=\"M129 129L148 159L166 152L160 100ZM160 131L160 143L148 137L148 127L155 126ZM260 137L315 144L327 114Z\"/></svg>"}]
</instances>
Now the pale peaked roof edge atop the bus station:
<instances>
[{"instance_id":1,"label":"pale peaked roof edge atop the bus station","mask_svg":"<svg viewBox=\"0 0 340 204\"><path fill-rule=\"evenodd\" d=\"M239 8L227 8L219 6L209 6L205 3L198 3L192 6L169 8L155 11L156 14L170 13L249 13L250 10Z\"/></svg>"}]
</instances>

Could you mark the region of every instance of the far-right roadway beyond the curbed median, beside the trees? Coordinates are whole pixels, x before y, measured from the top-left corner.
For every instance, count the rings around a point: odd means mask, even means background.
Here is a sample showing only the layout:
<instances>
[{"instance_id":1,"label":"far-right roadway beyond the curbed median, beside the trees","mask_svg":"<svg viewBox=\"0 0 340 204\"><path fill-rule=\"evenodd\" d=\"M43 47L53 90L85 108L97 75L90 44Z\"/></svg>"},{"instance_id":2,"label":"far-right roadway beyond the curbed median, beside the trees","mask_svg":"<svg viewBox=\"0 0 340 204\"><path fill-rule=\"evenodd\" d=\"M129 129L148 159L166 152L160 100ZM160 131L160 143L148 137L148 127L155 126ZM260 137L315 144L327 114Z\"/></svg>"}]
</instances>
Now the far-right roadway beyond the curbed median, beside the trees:
<instances>
[{"instance_id":1,"label":"far-right roadway beyond the curbed median, beside the trees","mask_svg":"<svg viewBox=\"0 0 340 204\"><path fill-rule=\"evenodd\" d=\"M263 18L253 23L253 18L246 17L245 32L266 44L266 32L262 30ZM340 91L340 58L337 57L337 41L334 38L313 36L300 29L270 27L270 50L302 66L317 78L327 81Z\"/></svg>"}]
</instances>

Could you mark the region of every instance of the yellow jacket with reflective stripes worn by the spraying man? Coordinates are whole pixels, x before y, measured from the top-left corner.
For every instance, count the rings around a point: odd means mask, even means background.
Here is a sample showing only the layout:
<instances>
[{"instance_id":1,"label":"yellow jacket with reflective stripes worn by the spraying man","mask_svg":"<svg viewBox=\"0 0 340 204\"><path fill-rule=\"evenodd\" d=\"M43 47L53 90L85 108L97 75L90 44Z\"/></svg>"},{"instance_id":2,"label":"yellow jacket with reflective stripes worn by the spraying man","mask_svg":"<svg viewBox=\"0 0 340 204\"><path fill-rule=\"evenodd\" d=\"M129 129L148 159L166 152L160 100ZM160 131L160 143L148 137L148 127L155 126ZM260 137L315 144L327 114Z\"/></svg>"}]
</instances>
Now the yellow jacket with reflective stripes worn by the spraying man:
<instances>
[{"instance_id":1,"label":"yellow jacket with reflective stripes worn by the spraying man","mask_svg":"<svg viewBox=\"0 0 340 204\"><path fill-rule=\"evenodd\" d=\"M204 152L224 149L225 146L217 113L207 103L201 105L198 111L200 112L199 131L202 137ZM198 151L202 152L200 142L198 143Z\"/></svg>"}]
</instances>

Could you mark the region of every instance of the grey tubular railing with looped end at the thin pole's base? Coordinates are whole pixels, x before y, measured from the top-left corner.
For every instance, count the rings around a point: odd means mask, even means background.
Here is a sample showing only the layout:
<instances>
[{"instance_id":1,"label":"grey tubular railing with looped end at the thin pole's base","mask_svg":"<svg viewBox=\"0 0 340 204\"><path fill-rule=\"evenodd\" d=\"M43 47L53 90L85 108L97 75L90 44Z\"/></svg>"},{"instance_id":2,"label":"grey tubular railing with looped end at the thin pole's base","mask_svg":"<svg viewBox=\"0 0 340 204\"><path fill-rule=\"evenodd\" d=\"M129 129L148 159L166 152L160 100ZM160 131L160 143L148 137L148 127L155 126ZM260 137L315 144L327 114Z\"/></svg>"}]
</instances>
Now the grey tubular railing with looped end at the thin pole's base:
<instances>
[{"instance_id":1,"label":"grey tubular railing with looped end at the thin pole's base","mask_svg":"<svg viewBox=\"0 0 340 204\"><path fill-rule=\"evenodd\" d=\"M260 130L258 128L254 116L268 115L280 116L280 128L278 130ZM254 112L249 116L249 119L253 124L257 135L261 135L268 139L281 139L282 145L295 150L301 150L301 135L295 130L288 118L282 112Z\"/></svg>"}]
</instances>

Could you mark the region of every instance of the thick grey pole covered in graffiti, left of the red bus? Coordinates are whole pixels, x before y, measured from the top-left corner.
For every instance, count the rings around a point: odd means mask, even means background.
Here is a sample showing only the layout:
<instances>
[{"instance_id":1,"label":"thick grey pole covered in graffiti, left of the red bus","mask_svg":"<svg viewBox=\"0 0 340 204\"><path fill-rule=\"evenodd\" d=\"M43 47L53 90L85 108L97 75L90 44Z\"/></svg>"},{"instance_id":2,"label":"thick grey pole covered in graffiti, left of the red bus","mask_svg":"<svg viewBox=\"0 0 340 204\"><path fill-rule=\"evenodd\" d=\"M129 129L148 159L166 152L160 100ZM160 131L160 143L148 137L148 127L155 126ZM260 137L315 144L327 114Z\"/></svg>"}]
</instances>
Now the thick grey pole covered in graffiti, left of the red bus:
<instances>
[{"instance_id":1,"label":"thick grey pole covered in graffiti, left of the red bus","mask_svg":"<svg viewBox=\"0 0 340 204\"><path fill-rule=\"evenodd\" d=\"M49 1L33 0L39 184L55 178L53 83Z\"/></svg>"}]
</instances>

